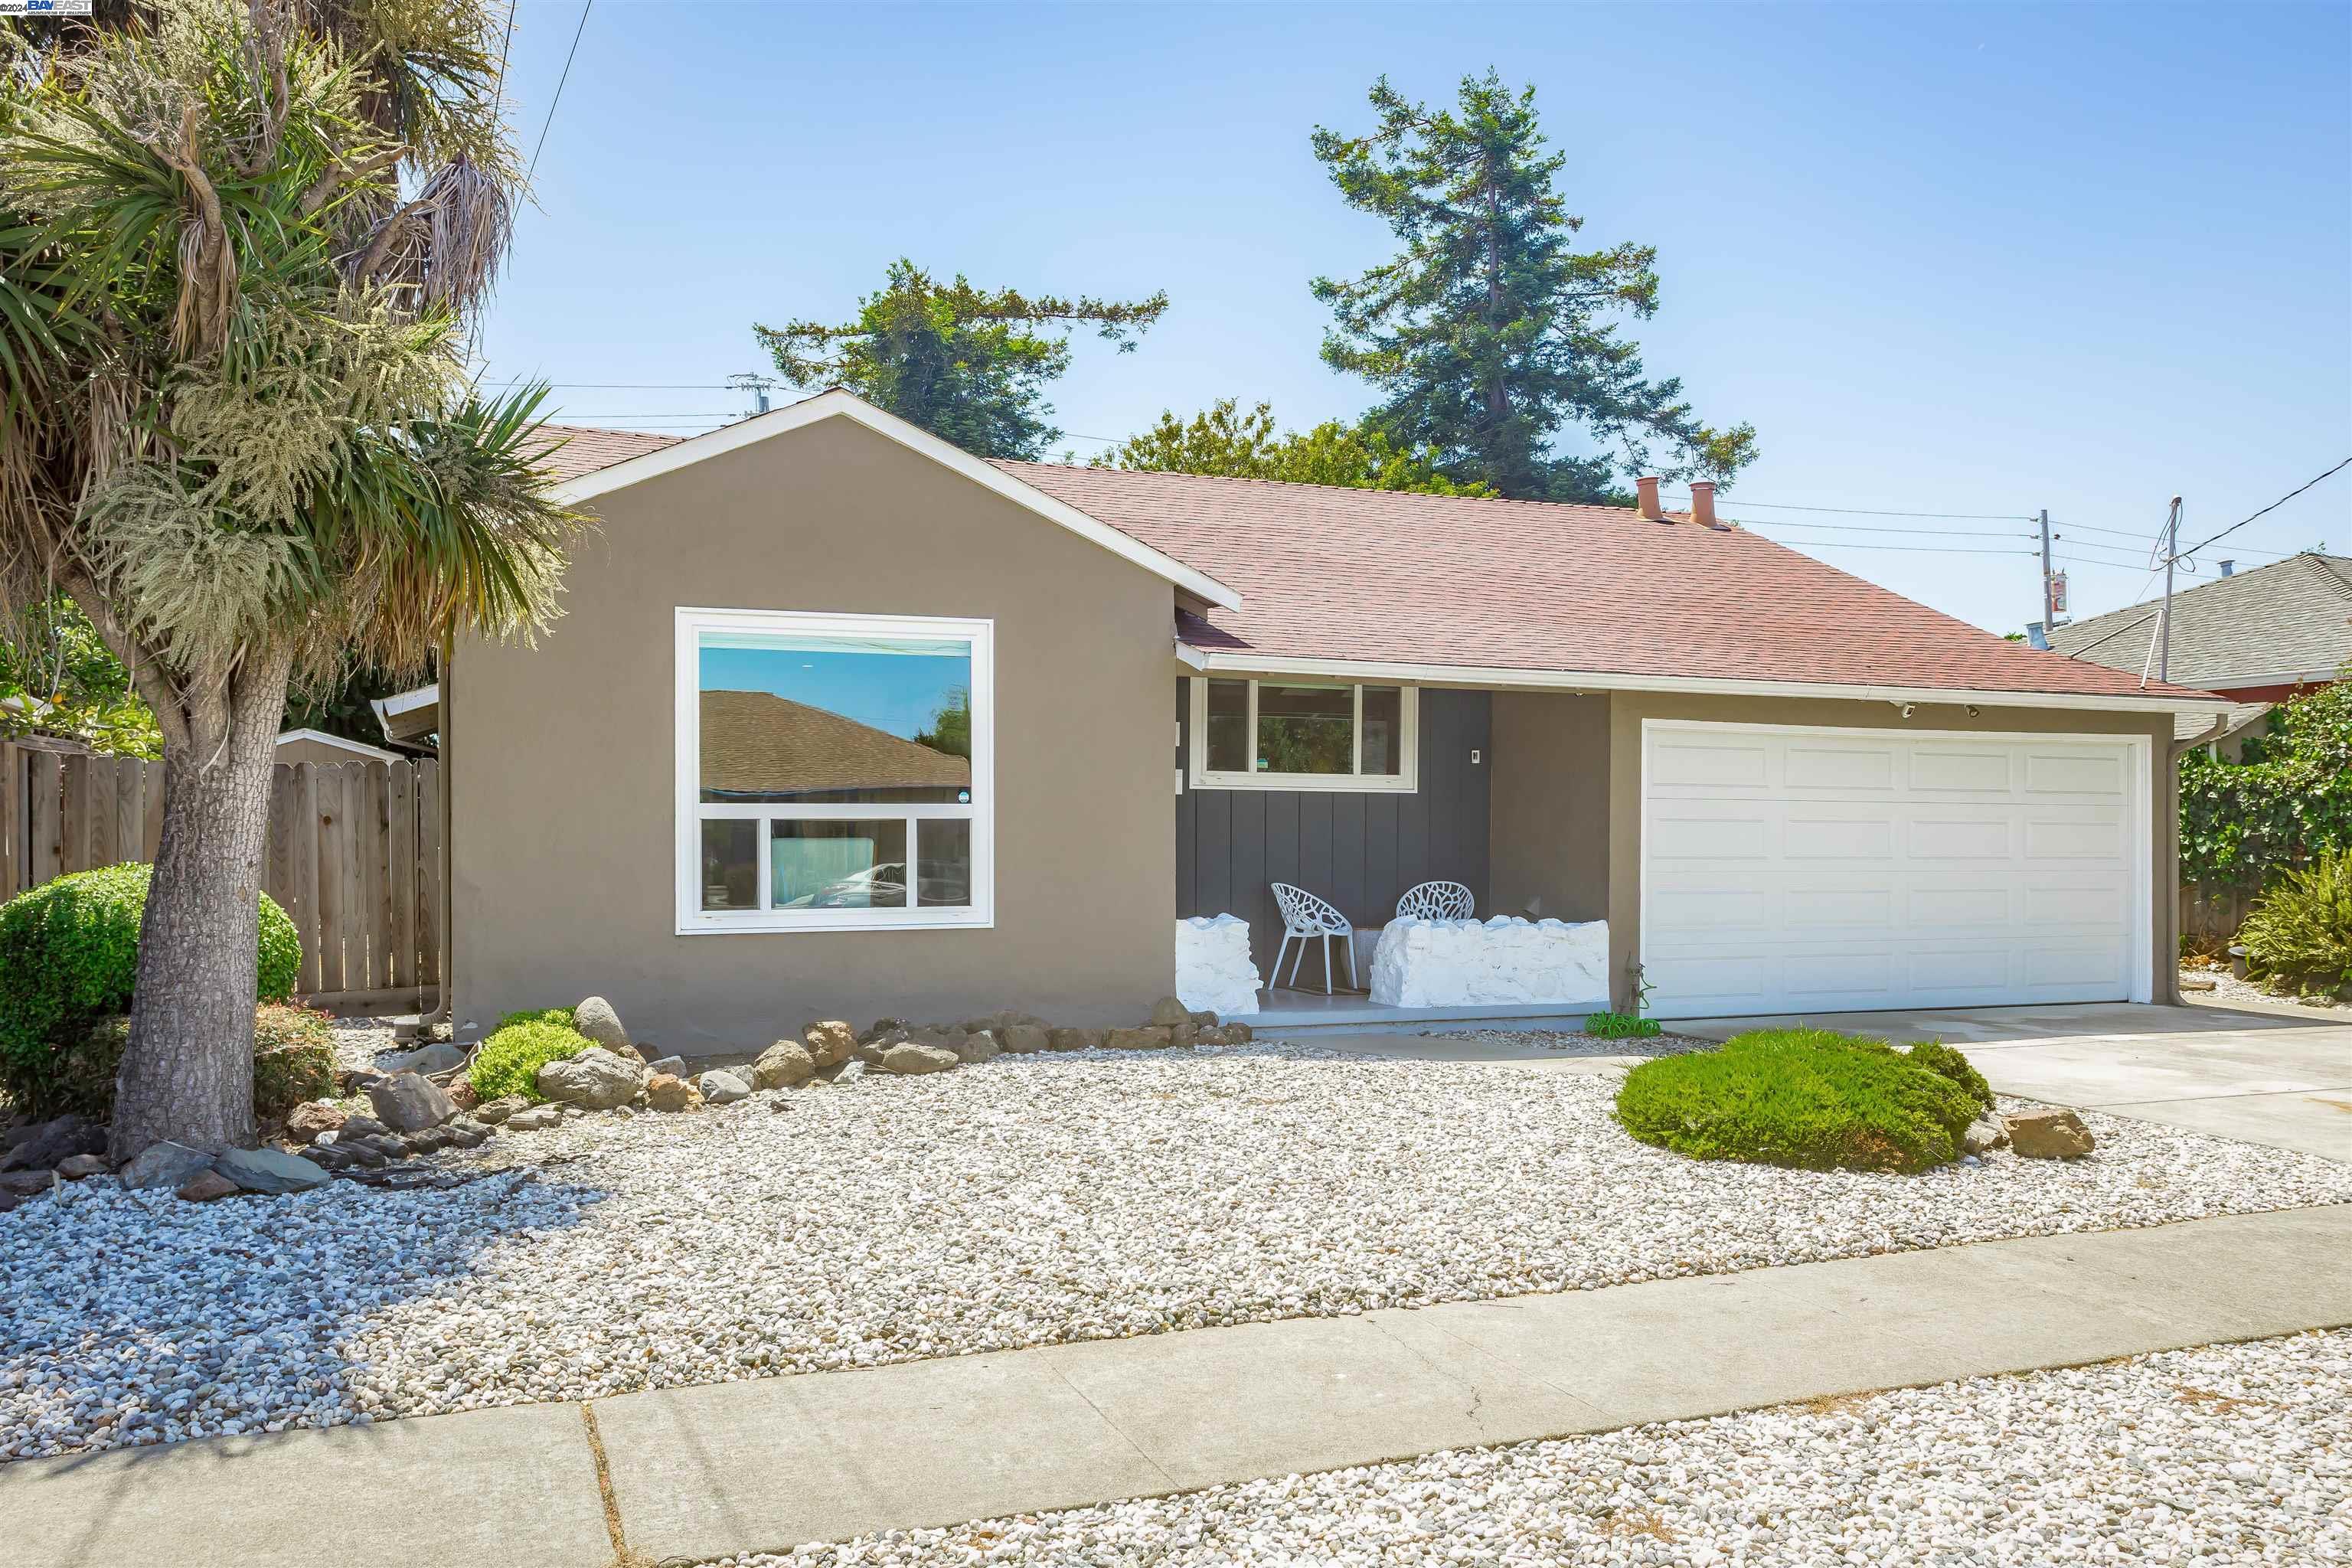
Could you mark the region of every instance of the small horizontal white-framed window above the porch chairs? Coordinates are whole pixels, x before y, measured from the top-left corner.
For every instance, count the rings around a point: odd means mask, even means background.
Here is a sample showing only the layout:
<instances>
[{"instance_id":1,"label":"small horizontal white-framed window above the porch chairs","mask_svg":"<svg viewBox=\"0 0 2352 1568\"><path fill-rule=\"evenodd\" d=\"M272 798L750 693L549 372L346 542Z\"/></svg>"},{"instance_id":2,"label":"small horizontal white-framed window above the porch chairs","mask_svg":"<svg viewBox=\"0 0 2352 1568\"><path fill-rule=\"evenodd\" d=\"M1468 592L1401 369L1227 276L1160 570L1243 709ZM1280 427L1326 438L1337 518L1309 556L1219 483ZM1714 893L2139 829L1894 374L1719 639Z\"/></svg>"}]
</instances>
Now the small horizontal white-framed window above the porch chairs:
<instances>
[{"instance_id":1,"label":"small horizontal white-framed window above the porch chairs","mask_svg":"<svg viewBox=\"0 0 2352 1568\"><path fill-rule=\"evenodd\" d=\"M1200 790L1414 790L1418 691L1192 677Z\"/></svg>"}]
</instances>

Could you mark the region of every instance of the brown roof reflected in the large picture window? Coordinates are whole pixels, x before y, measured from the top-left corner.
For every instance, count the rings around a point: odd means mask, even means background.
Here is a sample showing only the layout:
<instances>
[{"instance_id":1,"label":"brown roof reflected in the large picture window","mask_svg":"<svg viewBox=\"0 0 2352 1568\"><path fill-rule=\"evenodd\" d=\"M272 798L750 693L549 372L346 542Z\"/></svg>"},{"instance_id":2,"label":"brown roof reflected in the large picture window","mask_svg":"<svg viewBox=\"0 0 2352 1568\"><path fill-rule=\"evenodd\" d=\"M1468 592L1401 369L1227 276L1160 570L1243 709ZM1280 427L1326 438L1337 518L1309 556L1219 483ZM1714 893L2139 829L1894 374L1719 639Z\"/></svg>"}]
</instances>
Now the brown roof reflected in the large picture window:
<instances>
[{"instance_id":1,"label":"brown roof reflected in the large picture window","mask_svg":"<svg viewBox=\"0 0 2352 1568\"><path fill-rule=\"evenodd\" d=\"M703 797L967 790L971 762L774 691L703 691Z\"/></svg>"}]
</instances>

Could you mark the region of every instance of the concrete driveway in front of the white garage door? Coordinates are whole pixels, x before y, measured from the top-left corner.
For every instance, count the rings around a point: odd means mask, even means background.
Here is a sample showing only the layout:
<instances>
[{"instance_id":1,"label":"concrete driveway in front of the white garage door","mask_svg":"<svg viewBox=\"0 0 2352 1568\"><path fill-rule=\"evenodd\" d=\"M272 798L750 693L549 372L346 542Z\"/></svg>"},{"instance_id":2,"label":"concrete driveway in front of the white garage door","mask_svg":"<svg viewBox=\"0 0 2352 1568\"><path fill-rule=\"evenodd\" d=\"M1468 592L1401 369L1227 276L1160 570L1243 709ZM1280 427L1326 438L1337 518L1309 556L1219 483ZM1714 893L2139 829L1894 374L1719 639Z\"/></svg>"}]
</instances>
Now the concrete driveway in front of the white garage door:
<instances>
[{"instance_id":1,"label":"concrete driveway in front of the white garage door","mask_svg":"<svg viewBox=\"0 0 2352 1568\"><path fill-rule=\"evenodd\" d=\"M1700 1018L1705 1039L1813 1023L1959 1046L1999 1093L2352 1161L2352 1020L2220 1004L1966 1006L1811 1018Z\"/></svg>"}]
</instances>

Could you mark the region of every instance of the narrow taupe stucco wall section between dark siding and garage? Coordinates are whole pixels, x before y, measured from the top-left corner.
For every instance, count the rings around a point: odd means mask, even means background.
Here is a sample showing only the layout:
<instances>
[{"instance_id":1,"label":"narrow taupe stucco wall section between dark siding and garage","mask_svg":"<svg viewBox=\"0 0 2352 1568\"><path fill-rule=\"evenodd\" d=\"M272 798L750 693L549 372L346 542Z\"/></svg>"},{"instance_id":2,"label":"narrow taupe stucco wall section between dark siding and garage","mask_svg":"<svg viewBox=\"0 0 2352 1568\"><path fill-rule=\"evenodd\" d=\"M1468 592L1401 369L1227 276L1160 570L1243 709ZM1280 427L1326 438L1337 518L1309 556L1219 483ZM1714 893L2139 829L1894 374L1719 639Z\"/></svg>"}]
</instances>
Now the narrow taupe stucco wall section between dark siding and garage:
<instances>
[{"instance_id":1,"label":"narrow taupe stucco wall section between dark siding and garage","mask_svg":"<svg viewBox=\"0 0 2352 1568\"><path fill-rule=\"evenodd\" d=\"M1609 698L1494 693L1489 912L1609 914Z\"/></svg>"}]
</instances>

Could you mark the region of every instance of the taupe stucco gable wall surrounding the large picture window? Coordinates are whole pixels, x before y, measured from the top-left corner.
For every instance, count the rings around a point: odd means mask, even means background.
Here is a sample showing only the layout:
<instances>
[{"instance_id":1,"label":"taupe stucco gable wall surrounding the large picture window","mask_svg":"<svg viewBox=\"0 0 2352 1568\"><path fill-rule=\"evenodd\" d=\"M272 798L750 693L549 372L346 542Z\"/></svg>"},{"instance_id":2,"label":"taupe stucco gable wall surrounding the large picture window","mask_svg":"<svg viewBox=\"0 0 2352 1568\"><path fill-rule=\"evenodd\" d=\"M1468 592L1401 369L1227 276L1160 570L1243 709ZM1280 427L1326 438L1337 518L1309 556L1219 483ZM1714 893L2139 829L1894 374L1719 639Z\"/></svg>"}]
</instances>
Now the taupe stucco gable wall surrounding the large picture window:
<instances>
[{"instance_id":1,"label":"taupe stucco gable wall surrounding the large picture window","mask_svg":"<svg viewBox=\"0 0 2352 1568\"><path fill-rule=\"evenodd\" d=\"M1131 1023L1171 987L1169 585L844 418L593 503L536 651L445 686L454 1018L600 992L661 1046L1018 1006ZM995 926L675 936L673 609L995 621Z\"/></svg>"}]
</instances>

